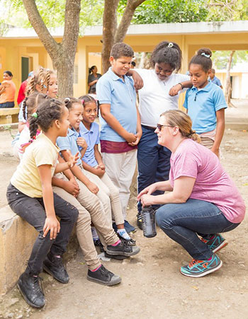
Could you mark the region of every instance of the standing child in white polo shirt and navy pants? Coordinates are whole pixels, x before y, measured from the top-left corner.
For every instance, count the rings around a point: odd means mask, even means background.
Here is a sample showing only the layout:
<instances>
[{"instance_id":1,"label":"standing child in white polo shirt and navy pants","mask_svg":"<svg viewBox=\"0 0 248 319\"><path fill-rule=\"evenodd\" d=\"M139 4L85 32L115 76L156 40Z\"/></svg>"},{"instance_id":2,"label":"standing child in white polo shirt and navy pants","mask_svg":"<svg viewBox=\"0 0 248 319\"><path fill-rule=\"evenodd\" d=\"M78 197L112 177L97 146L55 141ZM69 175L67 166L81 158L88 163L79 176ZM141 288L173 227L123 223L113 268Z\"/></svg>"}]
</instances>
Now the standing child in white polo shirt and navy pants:
<instances>
[{"instance_id":1,"label":"standing child in white polo shirt and navy pants","mask_svg":"<svg viewBox=\"0 0 248 319\"><path fill-rule=\"evenodd\" d=\"M166 110L178 108L179 91L191 88L189 76L179 74L181 69L181 49L175 42L163 41L154 48L150 59L152 69L135 69L144 81L139 90L139 112L142 137L137 146L138 178L137 189L141 192L152 182L167 180L171 152L157 144L155 133L159 115ZM128 75L133 75L130 70ZM157 191L156 194L161 194ZM137 204L137 226L141 224L141 204Z\"/></svg>"}]
</instances>

